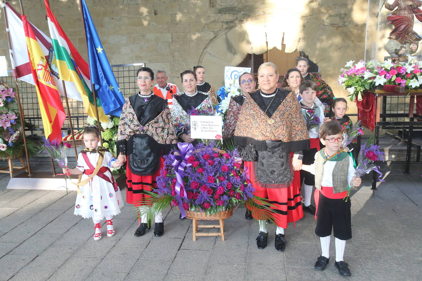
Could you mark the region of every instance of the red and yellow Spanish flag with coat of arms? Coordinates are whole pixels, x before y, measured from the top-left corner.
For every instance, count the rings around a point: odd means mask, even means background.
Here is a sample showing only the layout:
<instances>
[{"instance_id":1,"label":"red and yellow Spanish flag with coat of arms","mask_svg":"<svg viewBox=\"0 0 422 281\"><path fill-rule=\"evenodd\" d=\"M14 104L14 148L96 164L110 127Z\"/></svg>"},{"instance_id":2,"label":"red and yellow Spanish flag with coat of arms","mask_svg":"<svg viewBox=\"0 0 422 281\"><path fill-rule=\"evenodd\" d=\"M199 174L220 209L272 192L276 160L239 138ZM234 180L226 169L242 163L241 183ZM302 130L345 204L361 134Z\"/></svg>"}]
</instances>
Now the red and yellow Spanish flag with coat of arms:
<instances>
[{"instance_id":1,"label":"red and yellow Spanish flag with coat of arms","mask_svg":"<svg viewBox=\"0 0 422 281\"><path fill-rule=\"evenodd\" d=\"M32 30L31 25L24 15L22 15L22 23L25 31L32 76L34 77L35 88L37 90L44 133L50 141L56 139L60 143L62 142L62 126L66 119L62 100L51 75L47 59L41 50L37 37L35 37L34 30Z\"/></svg>"}]
</instances>

